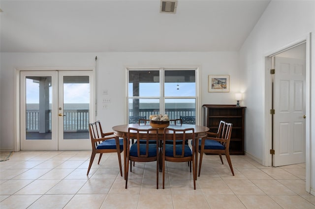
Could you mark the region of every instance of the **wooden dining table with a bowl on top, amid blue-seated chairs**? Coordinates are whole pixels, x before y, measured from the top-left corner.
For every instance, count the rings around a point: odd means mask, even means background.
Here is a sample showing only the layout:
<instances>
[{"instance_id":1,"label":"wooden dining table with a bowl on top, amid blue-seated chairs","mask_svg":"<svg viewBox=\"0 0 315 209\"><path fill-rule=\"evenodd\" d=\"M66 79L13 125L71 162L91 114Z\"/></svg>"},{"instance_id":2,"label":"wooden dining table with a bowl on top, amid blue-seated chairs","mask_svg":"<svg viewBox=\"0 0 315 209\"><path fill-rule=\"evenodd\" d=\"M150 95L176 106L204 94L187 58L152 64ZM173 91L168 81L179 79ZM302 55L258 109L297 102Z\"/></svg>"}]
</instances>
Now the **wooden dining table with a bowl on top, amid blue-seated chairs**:
<instances>
[{"instance_id":1,"label":"wooden dining table with a bowl on top, amid blue-seated chairs","mask_svg":"<svg viewBox=\"0 0 315 209\"><path fill-rule=\"evenodd\" d=\"M127 134L128 128L135 128L135 129L152 129L149 124L125 124L125 125L118 125L112 127L113 132L116 136L124 138L124 177L126 178L126 161L127 161ZM195 124L170 124L167 128L175 129L175 130L183 130L183 129L190 129L193 128L195 132L195 172L197 174L197 165L198 165L198 146L199 146L199 138L203 138L207 136L207 131L209 131L208 127L205 126L198 126ZM159 140L163 140L164 136L164 129L158 129L158 138ZM197 175L196 175L197 178Z\"/></svg>"}]
</instances>

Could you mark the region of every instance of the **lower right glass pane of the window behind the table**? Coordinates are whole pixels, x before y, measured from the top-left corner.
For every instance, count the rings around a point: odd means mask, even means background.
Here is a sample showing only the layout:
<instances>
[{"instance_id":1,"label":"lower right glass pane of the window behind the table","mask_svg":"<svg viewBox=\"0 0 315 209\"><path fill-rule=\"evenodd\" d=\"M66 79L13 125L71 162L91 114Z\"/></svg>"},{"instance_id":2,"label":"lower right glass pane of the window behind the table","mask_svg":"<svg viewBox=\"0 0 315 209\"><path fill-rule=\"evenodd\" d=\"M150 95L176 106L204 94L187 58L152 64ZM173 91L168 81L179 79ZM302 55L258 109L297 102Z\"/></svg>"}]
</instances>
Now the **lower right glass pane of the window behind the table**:
<instances>
[{"instance_id":1,"label":"lower right glass pane of the window behind the table","mask_svg":"<svg viewBox=\"0 0 315 209\"><path fill-rule=\"evenodd\" d=\"M195 99L165 99L165 114L169 119L182 119L184 124L196 124Z\"/></svg>"}]
</instances>

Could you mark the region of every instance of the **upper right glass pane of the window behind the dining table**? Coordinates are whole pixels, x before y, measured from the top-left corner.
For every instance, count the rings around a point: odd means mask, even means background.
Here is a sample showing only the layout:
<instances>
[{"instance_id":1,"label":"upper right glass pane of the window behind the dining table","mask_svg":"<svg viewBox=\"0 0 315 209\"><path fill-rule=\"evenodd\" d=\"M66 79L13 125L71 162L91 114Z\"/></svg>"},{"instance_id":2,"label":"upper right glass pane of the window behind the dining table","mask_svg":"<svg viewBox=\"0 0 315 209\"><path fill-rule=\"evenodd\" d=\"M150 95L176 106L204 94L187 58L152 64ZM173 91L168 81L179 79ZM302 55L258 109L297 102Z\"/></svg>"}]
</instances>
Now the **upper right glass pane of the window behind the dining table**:
<instances>
[{"instance_id":1,"label":"upper right glass pane of the window behind the dining table","mask_svg":"<svg viewBox=\"0 0 315 209\"><path fill-rule=\"evenodd\" d=\"M194 70L166 70L164 82L165 97L196 96Z\"/></svg>"}]
</instances>

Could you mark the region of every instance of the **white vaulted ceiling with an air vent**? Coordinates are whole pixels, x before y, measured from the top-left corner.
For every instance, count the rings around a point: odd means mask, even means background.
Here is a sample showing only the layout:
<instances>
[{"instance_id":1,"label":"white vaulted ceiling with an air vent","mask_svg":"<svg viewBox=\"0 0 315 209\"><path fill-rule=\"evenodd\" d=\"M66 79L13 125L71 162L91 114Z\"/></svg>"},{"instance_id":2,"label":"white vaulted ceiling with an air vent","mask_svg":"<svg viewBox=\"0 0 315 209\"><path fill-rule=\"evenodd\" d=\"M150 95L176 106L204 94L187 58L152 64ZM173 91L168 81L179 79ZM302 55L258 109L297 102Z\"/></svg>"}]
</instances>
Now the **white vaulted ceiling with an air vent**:
<instances>
[{"instance_id":1,"label":"white vaulted ceiling with an air vent","mask_svg":"<svg viewBox=\"0 0 315 209\"><path fill-rule=\"evenodd\" d=\"M1 52L238 51L270 0L1 0Z\"/></svg>"}]
</instances>

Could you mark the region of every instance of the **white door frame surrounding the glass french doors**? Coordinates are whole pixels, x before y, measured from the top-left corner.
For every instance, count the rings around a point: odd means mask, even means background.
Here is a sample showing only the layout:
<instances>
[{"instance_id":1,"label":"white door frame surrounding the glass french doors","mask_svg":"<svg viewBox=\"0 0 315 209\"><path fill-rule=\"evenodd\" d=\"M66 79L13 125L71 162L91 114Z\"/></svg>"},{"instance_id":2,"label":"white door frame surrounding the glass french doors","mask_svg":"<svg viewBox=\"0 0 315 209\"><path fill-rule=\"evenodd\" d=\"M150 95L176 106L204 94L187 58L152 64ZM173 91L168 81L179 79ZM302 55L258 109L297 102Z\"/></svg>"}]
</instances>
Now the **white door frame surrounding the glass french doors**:
<instances>
[{"instance_id":1,"label":"white door frame surrounding the glass french doors","mask_svg":"<svg viewBox=\"0 0 315 209\"><path fill-rule=\"evenodd\" d=\"M21 71L93 71L95 75L95 67L19 67L14 71L14 152L21 150L20 144L20 72ZM95 82L94 82L95 89ZM93 95L95 107L95 91ZM93 113L92 113L93 112ZM95 121L95 108L91 111L91 117Z\"/></svg>"}]
</instances>

